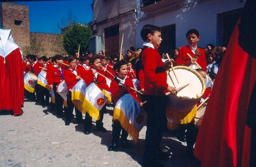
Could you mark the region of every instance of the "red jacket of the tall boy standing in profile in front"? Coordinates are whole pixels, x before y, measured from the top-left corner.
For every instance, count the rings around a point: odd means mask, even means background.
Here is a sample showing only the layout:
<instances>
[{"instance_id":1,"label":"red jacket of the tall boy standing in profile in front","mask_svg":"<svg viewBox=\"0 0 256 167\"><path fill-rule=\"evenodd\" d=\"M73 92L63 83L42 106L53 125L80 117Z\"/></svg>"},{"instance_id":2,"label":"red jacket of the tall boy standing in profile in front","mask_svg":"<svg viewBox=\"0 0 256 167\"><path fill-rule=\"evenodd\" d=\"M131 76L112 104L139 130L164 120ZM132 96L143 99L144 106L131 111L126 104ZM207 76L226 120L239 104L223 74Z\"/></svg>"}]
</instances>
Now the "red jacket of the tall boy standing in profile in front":
<instances>
[{"instance_id":1,"label":"red jacket of the tall boy standing in profile in front","mask_svg":"<svg viewBox=\"0 0 256 167\"><path fill-rule=\"evenodd\" d=\"M157 50L148 47L141 53L144 66L144 93L146 95L163 96L168 87L167 73Z\"/></svg>"}]
</instances>

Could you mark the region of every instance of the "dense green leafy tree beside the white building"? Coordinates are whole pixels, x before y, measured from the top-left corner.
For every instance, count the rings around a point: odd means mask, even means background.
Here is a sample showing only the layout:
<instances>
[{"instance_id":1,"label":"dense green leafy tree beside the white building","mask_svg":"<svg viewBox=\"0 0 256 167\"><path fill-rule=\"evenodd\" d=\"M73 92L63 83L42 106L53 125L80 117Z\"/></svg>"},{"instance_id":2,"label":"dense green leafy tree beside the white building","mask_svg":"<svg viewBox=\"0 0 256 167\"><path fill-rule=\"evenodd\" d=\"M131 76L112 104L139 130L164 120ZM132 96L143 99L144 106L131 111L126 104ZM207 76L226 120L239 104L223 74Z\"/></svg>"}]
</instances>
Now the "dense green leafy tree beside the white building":
<instances>
[{"instance_id":1,"label":"dense green leafy tree beside the white building","mask_svg":"<svg viewBox=\"0 0 256 167\"><path fill-rule=\"evenodd\" d=\"M73 23L63 32L63 47L68 54L75 55L80 45L79 54L89 52L89 38L93 36L87 25Z\"/></svg>"}]
</instances>

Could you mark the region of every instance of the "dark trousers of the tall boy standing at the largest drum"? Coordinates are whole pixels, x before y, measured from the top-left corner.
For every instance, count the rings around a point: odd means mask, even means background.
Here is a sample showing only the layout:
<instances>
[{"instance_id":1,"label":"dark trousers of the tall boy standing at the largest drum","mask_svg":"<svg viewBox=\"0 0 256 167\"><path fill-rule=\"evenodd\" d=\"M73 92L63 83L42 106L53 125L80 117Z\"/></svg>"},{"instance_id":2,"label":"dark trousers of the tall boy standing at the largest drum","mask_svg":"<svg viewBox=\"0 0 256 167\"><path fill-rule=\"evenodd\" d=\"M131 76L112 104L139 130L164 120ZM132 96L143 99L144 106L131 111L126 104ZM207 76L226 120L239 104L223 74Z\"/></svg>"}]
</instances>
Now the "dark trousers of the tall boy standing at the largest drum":
<instances>
[{"instance_id":1,"label":"dark trousers of the tall boy standing at the largest drum","mask_svg":"<svg viewBox=\"0 0 256 167\"><path fill-rule=\"evenodd\" d=\"M166 96L145 95L143 109L147 114L144 160L153 160L159 152L163 131L167 126Z\"/></svg>"}]
</instances>

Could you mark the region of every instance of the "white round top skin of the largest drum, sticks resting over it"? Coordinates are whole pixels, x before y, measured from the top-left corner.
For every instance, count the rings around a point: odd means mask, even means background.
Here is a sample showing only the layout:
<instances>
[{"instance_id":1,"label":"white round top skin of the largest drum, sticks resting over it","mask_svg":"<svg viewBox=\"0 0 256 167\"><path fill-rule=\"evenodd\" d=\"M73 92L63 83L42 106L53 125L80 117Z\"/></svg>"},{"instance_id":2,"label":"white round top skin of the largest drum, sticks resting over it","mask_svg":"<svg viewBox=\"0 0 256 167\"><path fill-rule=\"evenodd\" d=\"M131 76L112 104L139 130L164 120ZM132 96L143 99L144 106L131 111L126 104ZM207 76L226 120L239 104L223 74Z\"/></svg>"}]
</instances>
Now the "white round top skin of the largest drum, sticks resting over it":
<instances>
[{"instance_id":1,"label":"white round top skin of the largest drum, sticks resting over it","mask_svg":"<svg viewBox=\"0 0 256 167\"><path fill-rule=\"evenodd\" d=\"M186 66L176 66L174 67L174 71L177 79L172 69L167 71L167 84L170 87L180 88L188 84L188 86L177 93L177 97L183 99L197 99L204 94L205 81L199 72Z\"/></svg>"}]
</instances>

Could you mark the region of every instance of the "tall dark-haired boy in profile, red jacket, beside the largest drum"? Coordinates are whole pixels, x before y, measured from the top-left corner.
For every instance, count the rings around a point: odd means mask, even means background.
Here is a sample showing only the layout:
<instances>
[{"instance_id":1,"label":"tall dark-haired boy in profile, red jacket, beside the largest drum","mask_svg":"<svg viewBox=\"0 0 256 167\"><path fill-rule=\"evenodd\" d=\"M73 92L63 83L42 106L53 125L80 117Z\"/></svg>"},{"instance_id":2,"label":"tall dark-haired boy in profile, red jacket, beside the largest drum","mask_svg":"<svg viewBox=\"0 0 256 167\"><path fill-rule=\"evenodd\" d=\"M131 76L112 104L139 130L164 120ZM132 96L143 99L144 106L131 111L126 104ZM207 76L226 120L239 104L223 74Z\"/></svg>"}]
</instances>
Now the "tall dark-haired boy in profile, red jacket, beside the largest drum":
<instances>
[{"instance_id":1,"label":"tall dark-haired boy in profile, red jacket, beside the largest drum","mask_svg":"<svg viewBox=\"0 0 256 167\"><path fill-rule=\"evenodd\" d=\"M146 24L140 32L144 41L141 52L141 62L144 71L144 94L147 101L143 108L147 114L145 152L143 166L163 166L158 162L163 152L159 146L166 129L167 119L165 109L167 103L166 91L174 94L177 91L167 84L167 73L157 49L162 41L161 28Z\"/></svg>"}]
</instances>

